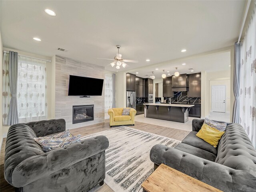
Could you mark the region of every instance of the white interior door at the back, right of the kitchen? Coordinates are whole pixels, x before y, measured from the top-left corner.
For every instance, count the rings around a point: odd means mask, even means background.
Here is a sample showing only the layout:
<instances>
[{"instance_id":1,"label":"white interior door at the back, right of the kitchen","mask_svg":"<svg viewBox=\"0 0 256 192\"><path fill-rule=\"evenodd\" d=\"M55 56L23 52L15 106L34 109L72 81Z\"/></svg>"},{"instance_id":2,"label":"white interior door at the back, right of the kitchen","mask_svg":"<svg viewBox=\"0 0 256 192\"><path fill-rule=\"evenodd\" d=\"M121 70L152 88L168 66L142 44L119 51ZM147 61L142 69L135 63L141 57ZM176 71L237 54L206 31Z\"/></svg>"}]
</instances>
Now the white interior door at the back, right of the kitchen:
<instances>
[{"instance_id":1,"label":"white interior door at the back, right of the kitchen","mask_svg":"<svg viewBox=\"0 0 256 192\"><path fill-rule=\"evenodd\" d=\"M226 86L213 85L212 86L212 111L226 112Z\"/></svg>"}]
</instances>

